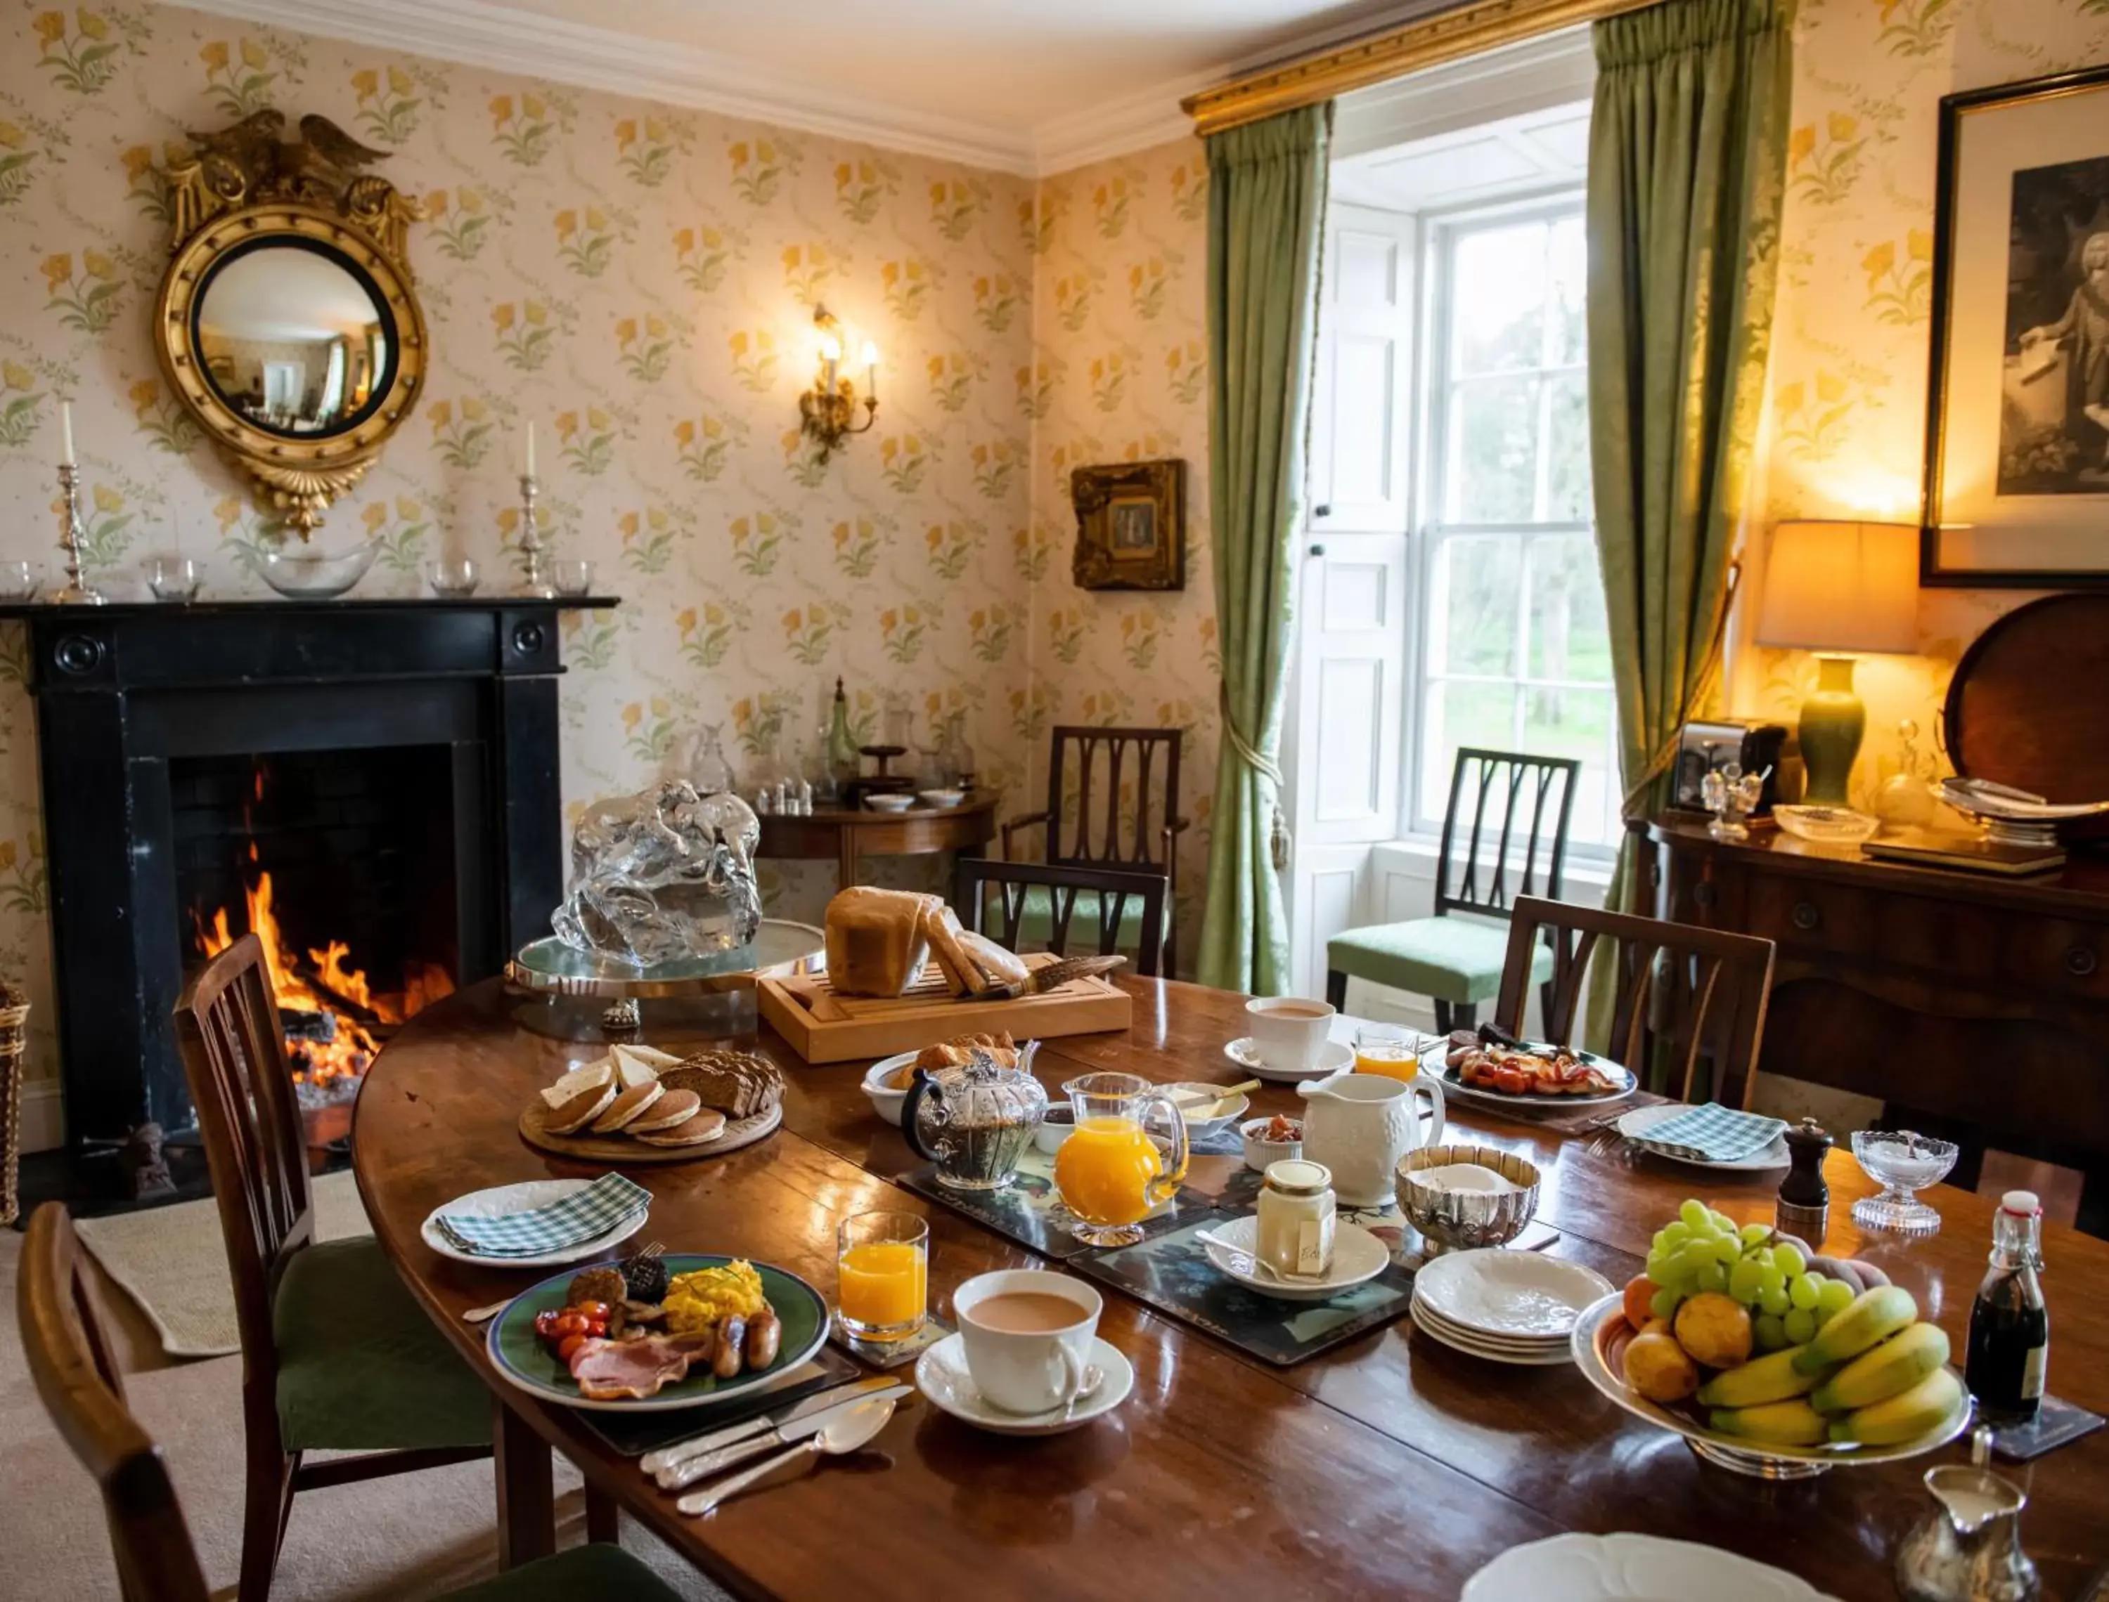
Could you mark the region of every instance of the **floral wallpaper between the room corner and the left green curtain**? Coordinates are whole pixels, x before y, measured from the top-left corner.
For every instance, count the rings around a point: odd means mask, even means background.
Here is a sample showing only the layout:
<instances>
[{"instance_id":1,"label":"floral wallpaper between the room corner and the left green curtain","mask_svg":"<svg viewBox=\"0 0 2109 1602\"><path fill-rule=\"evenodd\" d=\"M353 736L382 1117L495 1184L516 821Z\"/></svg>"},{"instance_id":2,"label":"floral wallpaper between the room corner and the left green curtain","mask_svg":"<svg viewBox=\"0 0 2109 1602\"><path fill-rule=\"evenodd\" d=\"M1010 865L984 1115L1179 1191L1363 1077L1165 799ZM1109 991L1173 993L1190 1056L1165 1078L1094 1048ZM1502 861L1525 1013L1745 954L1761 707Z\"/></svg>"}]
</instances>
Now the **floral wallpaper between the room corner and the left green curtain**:
<instances>
[{"instance_id":1,"label":"floral wallpaper between the room corner and the left green curtain","mask_svg":"<svg viewBox=\"0 0 2109 1602\"><path fill-rule=\"evenodd\" d=\"M1175 875L1179 965L1192 972L1215 797L1215 580L1208 571L1208 367L1202 272L1208 164L1198 139L1050 177L1033 230L1033 675L1012 691L1036 795L1046 727L1185 729ZM1185 457L1185 590L1080 590L1069 578L1069 474L1097 462ZM1021 548L1023 554L1023 548Z\"/></svg>"}]
</instances>

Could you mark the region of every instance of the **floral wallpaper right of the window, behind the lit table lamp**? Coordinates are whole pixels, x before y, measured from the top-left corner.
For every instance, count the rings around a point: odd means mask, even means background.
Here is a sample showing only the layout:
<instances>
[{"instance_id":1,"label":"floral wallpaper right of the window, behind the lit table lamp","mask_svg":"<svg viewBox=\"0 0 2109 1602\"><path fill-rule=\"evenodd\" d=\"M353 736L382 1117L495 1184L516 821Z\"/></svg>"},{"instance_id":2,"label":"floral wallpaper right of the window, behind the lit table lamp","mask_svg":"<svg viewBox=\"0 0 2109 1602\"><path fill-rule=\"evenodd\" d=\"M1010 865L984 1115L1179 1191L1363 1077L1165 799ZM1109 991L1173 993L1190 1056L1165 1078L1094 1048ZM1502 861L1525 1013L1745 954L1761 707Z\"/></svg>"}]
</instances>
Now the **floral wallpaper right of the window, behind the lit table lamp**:
<instances>
[{"instance_id":1,"label":"floral wallpaper right of the window, behind the lit table lamp","mask_svg":"<svg viewBox=\"0 0 2109 1602\"><path fill-rule=\"evenodd\" d=\"M1803 0L1795 34L1769 443L1755 521L1765 529L1793 516L1915 523L1940 97L2109 61L2109 2ZM1917 721L1917 746L1930 753L1955 660L2027 599L1921 590L1921 656L1862 660L1869 736L1854 774L1862 805L1898 769L1898 719ZM1791 725L1814 681L1805 651L1753 649L1738 668L1736 704Z\"/></svg>"}]
</instances>

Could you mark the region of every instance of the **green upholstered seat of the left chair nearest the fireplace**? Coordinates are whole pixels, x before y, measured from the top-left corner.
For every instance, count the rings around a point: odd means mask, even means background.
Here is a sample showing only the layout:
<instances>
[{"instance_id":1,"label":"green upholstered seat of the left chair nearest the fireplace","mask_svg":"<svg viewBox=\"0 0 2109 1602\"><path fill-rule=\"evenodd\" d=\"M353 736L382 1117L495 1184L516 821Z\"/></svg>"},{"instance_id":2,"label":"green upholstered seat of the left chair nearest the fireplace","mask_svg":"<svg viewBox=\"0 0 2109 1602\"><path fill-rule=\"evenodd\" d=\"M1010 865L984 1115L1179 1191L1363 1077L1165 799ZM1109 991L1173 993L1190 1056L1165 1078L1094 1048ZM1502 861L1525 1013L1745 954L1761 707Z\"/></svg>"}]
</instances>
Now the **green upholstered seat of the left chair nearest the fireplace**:
<instances>
[{"instance_id":1,"label":"green upholstered seat of the left chair nearest the fireplace","mask_svg":"<svg viewBox=\"0 0 2109 1602\"><path fill-rule=\"evenodd\" d=\"M272 1332L287 1450L491 1444L489 1389L371 1235L295 1252Z\"/></svg>"}]
</instances>

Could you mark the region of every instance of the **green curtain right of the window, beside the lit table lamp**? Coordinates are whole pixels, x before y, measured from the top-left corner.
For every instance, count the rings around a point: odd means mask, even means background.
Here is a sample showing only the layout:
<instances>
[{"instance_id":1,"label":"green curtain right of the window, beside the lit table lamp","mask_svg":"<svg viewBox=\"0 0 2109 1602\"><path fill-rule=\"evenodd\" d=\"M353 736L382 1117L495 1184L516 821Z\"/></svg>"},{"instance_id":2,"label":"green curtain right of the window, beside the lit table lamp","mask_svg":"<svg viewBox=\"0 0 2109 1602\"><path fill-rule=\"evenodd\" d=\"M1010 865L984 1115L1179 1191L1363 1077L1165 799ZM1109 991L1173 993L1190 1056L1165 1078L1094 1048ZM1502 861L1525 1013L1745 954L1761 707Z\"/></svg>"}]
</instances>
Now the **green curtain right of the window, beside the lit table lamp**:
<instances>
[{"instance_id":1,"label":"green curtain right of the window, beside the lit table lamp","mask_svg":"<svg viewBox=\"0 0 2109 1602\"><path fill-rule=\"evenodd\" d=\"M1721 670L1772 341L1793 0L1594 25L1588 413L1626 818L1666 799ZM1611 906L1645 911L1620 852Z\"/></svg>"}]
</instances>

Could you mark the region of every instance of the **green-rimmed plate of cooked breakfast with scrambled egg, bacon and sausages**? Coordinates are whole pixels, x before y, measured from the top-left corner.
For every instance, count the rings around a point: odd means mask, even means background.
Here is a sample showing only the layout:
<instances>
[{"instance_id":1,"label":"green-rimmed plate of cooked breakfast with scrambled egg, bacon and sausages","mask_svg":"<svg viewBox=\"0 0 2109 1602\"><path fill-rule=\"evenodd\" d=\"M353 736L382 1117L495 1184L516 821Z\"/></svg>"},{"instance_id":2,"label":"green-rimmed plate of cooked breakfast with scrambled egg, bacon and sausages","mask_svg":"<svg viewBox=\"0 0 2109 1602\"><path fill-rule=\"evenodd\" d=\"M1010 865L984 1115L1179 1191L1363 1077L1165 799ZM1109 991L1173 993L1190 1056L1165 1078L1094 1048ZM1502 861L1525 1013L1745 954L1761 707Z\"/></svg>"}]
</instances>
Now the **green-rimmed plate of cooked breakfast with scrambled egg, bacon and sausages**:
<instances>
[{"instance_id":1,"label":"green-rimmed plate of cooked breakfast with scrambled egg, bacon and sausages","mask_svg":"<svg viewBox=\"0 0 2109 1602\"><path fill-rule=\"evenodd\" d=\"M491 1320L500 1379L593 1412L673 1412L782 1385L827 1341L827 1303L787 1269L637 1252L557 1273Z\"/></svg>"}]
</instances>

